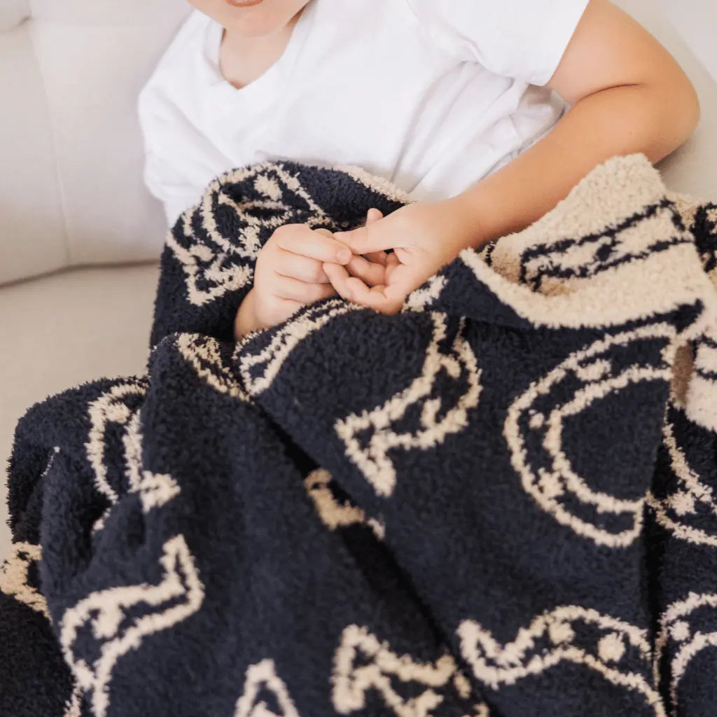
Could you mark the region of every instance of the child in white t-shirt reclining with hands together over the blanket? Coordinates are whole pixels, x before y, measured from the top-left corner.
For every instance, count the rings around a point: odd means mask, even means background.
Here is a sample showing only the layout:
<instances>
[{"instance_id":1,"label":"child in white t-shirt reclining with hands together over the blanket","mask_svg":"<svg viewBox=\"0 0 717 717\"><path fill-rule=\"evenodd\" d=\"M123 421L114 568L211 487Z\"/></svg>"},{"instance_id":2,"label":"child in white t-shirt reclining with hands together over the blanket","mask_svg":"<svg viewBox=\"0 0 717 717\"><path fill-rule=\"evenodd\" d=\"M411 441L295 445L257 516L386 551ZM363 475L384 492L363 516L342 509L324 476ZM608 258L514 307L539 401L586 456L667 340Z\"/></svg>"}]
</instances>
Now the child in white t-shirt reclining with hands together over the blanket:
<instances>
[{"instance_id":1,"label":"child in white t-shirt reclining with hands together over the blanket","mask_svg":"<svg viewBox=\"0 0 717 717\"><path fill-rule=\"evenodd\" d=\"M359 165L416 200L344 234L278 229L237 338L334 293L396 311L605 159L659 161L698 123L675 60L608 0L191 4L139 105L146 183L169 222L215 176L275 158Z\"/></svg>"}]
</instances>

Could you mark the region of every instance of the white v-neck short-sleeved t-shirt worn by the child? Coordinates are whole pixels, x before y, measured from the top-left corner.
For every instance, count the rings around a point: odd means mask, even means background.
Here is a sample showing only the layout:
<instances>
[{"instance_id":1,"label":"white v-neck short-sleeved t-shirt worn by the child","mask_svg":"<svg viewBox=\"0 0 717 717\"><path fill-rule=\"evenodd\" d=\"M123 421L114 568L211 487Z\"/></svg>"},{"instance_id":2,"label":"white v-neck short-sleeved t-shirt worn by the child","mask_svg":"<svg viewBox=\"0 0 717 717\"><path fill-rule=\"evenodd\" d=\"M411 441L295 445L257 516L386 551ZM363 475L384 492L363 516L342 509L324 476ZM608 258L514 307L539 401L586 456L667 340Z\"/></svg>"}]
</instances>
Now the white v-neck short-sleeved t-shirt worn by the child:
<instances>
[{"instance_id":1,"label":"white v-neck short-sleeved t-shirt worn by the child","mask_svg":"<svg viewBox=\"0 0 717 717\"><path fill-rule=\"evenodd\" d=\"M465 191L545 135L544 85L588 0L311 0L282 56L237 89L194 11L143 88L145 181L168 222L232 168L358 165L418 201Z\"/></svg>"}]
</instances>

